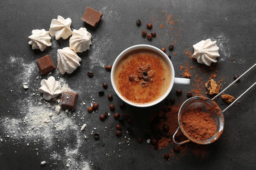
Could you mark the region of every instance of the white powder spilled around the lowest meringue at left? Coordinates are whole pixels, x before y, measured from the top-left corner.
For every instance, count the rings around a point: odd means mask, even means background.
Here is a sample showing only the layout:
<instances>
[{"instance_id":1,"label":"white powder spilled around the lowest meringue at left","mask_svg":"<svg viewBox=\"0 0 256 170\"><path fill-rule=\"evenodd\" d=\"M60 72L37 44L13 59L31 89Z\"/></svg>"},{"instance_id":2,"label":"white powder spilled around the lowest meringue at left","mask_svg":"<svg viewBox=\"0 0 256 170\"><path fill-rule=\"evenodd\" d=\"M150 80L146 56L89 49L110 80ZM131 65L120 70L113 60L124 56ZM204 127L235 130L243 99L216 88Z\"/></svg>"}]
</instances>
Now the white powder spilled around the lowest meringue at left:
<instances>
[{"instance_id":1,"label":"white powder spilled around the lowest meringue at left","mask_svg":"<svg viewBox=\"0 0 256 170\"><path fill-rule=\"evenodd\" d=\"M3 129L0 134L1 142L8 143L13 141L14 144L22 144L24 146L37 146L43 144L43 149L37 151L37 155L43 155L44 149L55 150L56 142L67 141L70 138L70 134L74 134L75 144L72 147L64 148L65 155L61 154L61 150L53 151L54 154L49 159L60 162L60 167L64 167L69 164L67 169L79 169L90 170L90 166L87 160L83 159L82 154L79 152L83 142L85 142L84 135L89 135L87 130L80 131L81 125L76 124L76 116L79 112L70 112L67 110L60 110L56 112L56 108L60 109L59 102L60 96L51 99L49 101L41 97L41 93L38 92L40 87L40 81L43 79L38 76L36 70L36 63L25 64L25 61L20 57L10 57L9 63L13 67L18 67L20 74L15 77L16 84L22 87L23 91L13 90L12 93L25 93L26 97L17 99L14 106L17 106L17 116L10 117L8 114L6 117L2 117L0 120L0 126ZM63 78L56 77L56 80L61 82L62 91L73 91L68 86L67 82ZM48 77L48 76L47 76ZM44 77L46 78L46 77ZM29 86L28 89L24 89L23 85ZM74 91L73 91L74 92ZM83 122L83 117L80 118ZM48 163L48 160L44 160ZM40 162L38 162L40 165ZM64 165L64 166L63 166ZM61 168L63 170L63 168Z\"/></svg>"}]
</instances>

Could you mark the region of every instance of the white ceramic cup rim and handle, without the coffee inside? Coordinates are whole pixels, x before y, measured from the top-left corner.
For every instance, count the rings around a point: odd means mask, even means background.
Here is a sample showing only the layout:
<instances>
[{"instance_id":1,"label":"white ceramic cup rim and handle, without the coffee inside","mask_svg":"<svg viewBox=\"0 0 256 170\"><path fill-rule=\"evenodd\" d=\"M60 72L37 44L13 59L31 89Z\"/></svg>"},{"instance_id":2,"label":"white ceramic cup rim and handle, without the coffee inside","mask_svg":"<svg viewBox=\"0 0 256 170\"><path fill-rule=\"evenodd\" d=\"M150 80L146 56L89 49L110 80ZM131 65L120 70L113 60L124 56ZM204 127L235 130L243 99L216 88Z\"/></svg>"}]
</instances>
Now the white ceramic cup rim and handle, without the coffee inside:
<instances>
[{"instance_id":1,"label":"white ceramic cup rim and handle, without the coffee inside","mask_svg":"<svg viewBox=\"0 0 256 170\"><path fill-rule=\"evenodd\" d=\"M171 83L170 83L170 86L169 86L168 90L166 91L166 93L162 97L160 97L159 99L155 100L154 102L150 102L148 104L135 104L135 103L132 103L132 102L126 100L119 93L119 91L117 90L117 87L116 87L115 81L114 81L115 68L117 67L117 64L119 63L119 60L121 60L121 58L124 57L127 53L129 53L131 51L134 51L134 50L138 50L138 49L150 49L150 50L153 50L153 51L157 52L159 55L164 57L164 59L168 62L168 66L171 68ZM130 105L136 106L136 107L149 107L149 106L153 106L155 104L158 104L159 102L162 102L162 100L164 100L168 96L168 94L171 92L171 89L173 88L173 84L186 84L186 85L189 85L190 84L190 79L174 77L173 64L172 64L171 60L168 58L168 56L162 50L158 49L155 46L139 44L139 45L131 46L128 49L125 49L123 52L121 52L117 56L113 66L112 66L112 70L111 70L111 83L112 83L112 86L113 86L115 92L117 93L118 97L120 97L127 104L130 104Z\"/></svg>"}]
</instances>

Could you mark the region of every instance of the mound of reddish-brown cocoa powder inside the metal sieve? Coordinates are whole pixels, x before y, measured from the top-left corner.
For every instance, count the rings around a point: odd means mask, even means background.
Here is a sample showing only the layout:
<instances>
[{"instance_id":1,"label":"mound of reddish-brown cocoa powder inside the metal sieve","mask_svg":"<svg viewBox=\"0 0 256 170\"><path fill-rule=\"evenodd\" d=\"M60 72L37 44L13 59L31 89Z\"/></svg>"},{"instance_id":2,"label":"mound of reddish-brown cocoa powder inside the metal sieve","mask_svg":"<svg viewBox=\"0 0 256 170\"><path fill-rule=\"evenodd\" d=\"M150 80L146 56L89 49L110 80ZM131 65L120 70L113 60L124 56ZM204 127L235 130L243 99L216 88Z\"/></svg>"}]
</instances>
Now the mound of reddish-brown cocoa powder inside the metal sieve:
<instances>
[{"instance_id":1,"label":"mound of reddish-brown cocoa powder inside the metal sieve","mask_svg":"<svg viewBox=\"0 0 256 170\"><path fill-rule=\"evenodd\" d=\"M192 106L183 113L182 126L184 131L196 140L209 139L217 131L216 124L211 118L211 114L202 111L202 107L195 108Z\"/></svg>"}]
</instances>

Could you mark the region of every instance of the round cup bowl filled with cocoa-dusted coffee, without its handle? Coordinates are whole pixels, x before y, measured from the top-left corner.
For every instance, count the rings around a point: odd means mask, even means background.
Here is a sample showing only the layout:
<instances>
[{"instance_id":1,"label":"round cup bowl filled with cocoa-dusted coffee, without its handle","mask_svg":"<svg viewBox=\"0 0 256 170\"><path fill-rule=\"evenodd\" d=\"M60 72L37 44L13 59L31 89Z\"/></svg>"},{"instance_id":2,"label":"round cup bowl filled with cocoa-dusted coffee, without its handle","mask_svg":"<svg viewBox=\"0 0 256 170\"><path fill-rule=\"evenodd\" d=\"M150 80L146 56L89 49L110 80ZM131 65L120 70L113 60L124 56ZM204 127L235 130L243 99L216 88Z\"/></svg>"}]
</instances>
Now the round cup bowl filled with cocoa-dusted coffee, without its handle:
<instances>
[{"instance_id":1,"label":"round cup bowl filled with cocoa-dusted coffee, without its handle","mask_svg":"<svg viewBox=\"0 0 256 170\"><path fill-rule=\"evenodd\" d=\"M146 72L153 71L155 74L149 77L153 82L149 80L148 86L143 87L144 78L137 82L138 68L145 68L146 64L150 64ZM129 80L131 74L134 75L136 82ZM131 46L116 58L112 66L111 83L124 102L137 107L153 106L165 99L173 87L173 64L163 51L154 46Z\"/></svg>"}]
</instances>

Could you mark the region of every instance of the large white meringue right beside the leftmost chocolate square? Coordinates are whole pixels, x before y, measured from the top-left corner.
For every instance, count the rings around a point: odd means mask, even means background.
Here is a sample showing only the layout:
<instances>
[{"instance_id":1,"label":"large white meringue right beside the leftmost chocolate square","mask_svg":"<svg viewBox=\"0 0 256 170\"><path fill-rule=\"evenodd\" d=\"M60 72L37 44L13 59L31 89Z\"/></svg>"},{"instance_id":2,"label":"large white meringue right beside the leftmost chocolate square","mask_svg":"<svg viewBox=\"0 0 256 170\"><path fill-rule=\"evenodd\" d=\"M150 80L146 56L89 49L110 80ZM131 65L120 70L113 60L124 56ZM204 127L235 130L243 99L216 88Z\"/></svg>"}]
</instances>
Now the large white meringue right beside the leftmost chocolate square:
<instances>
[{"instance_id":1,"label":"large white meringue right beside the leftmost chocolate square","mask_svg":"<svg viewBox=\"0 0 256 170\"><path fill-rule=\"evenodd\" d=\"M70 47L65 47L63 49L58 49L57 51L58 57L58 70L61 74L72 73L78 66L80 66L79 62L81 62L81 58L70 49Z\"/></svg>"}]
</instances>

